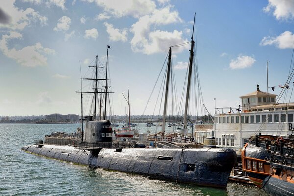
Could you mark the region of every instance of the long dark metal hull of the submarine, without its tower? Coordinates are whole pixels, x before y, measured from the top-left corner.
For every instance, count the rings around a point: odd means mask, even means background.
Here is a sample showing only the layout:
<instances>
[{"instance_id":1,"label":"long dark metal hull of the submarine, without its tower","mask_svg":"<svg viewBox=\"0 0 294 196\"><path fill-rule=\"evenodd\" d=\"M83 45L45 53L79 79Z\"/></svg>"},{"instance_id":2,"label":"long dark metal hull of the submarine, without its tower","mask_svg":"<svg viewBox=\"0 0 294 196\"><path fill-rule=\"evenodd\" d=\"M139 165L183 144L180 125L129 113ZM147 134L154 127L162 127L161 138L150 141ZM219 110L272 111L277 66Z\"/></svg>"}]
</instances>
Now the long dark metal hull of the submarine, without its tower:
<instances>
[{"instance_id":1,"label":"long dark metal hull of the submarine, without its tower","mask_svg":"<svg viewBox=\"0 0 294 196\"><path fill-rule=\"evenodd\" d=\"M226 188L236 162L236 152L225 148L101 148L92 154L73 146L30 145L26 152L85 165L156 179Z\"/></svg>"}]
</instances>

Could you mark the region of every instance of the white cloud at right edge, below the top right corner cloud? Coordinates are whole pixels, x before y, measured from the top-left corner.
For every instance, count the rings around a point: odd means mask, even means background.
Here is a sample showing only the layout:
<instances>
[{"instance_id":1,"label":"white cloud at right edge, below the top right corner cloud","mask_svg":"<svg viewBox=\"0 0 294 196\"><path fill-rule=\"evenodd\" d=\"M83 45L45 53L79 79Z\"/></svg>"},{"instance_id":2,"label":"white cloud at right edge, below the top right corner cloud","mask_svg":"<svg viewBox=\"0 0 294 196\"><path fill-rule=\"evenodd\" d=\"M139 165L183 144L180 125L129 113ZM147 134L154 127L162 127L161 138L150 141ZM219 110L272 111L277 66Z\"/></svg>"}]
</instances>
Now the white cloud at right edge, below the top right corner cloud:
<instances>
[{"instance_id":1,"label":"white cloud at right edge, below the top right corner cloud","mask_svg":"<svg viewBox=\"0 0 294 196\"><path fill-rule=\"evenodd\" d=\"M260 43L261 46L266 45L275 45L279 49L287 49L287 48L293 48L294 46L294 34L290 31L285 31L284 33L281 33L277 37L264 37Z\"/></svg>"}]
</instances>

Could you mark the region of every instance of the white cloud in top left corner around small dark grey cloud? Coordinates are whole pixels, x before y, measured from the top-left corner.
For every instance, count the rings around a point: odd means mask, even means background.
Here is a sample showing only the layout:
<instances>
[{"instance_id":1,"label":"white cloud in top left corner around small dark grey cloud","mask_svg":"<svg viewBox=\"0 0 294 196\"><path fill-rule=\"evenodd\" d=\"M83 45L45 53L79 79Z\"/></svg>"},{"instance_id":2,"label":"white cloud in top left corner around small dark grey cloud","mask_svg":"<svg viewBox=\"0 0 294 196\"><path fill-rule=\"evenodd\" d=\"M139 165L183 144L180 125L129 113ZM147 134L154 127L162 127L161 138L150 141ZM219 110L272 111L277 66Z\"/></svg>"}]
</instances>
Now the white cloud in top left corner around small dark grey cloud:
<instances>
[{"instance_id":1,"label":"white cloud in top left corner around small dark grey cloud","mask_svg":"<svg viewBox=\"0 0 294 196\"><path fill-rule=\"evenodd\" d=\"M46 25L47 18L41 16L32 8L23 10L15 7L15 0L1 0L0 9L8 15L9 23L0 23L0 28L12 30L23 30L27 25L33 22L40 22L41 25Z\"/></svg>"}]
</instances>

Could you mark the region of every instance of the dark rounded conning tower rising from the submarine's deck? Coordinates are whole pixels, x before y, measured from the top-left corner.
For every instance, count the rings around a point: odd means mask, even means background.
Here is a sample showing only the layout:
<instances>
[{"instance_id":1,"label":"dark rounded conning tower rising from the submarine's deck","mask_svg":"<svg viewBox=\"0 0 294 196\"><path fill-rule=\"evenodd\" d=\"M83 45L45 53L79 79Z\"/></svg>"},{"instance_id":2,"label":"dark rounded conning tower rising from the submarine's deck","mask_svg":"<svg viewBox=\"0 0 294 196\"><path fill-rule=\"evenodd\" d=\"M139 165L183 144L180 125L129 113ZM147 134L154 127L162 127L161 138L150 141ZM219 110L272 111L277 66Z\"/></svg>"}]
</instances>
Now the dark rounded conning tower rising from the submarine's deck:
<instances>
[{"instance_id":1,"label":"dark rounded conning tower rising from the submarine's deck","mask_svg":"<svg viewBox=\"0 0 294 196\"><path fill-rule=\"evenodd\" d=\"M92 120L92 116L87 116L82 146L87 148L111 148L112 126L110 121Z\"/></svg>"}]
</instances>

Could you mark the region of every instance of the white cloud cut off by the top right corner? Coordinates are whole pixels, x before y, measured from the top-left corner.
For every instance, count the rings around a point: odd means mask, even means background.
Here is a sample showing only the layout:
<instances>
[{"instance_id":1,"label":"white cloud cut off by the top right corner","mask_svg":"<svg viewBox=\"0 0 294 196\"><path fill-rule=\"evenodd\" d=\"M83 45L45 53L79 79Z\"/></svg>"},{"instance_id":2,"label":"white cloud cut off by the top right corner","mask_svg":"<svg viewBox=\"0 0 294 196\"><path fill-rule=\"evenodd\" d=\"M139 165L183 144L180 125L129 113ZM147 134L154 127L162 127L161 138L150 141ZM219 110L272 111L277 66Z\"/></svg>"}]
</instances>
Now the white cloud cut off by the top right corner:
<instances>
[{"instance_id":1,"label":"white cloud cut off by the top right corner","mask_svg":"<svg viewBox=\"0 0 294 196\"><path fill-rule=\"evenodd\" d=\"M264 7L264 12L273 11L277 20L294 18L294 0L268 0L269 4Z\"/></svg>"}]
</instances>

